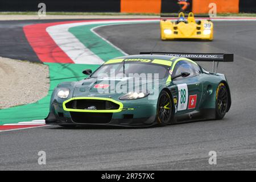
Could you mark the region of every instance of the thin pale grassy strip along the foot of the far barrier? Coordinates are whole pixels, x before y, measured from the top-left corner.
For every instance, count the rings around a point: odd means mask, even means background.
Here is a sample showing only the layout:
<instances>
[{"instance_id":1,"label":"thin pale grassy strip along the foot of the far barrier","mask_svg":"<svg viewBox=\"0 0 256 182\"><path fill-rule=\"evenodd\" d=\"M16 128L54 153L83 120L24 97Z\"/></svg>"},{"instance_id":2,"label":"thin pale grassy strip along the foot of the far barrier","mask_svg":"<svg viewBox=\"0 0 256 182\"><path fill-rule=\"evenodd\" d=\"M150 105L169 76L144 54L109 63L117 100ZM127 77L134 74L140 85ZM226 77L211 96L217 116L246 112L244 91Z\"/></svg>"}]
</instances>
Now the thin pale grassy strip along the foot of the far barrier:
<instances>
[{"instance_id":1,"label":"thin pale grassy strip along the foot of the far barrier","mask_svg":"<svg viewBox=\"0 0 256 182\"><path fill-rule=\"evenodd\" d=\"M6 12L0 12L0 15L37 15L37 12L34 11L25 11L25 12L11 12L11 11L6 11ZM177 13L163 13L163 15L170 15L170 16L176 16ZM100 12L95 12L95 13L89 13L89 12L47 12L47 15L110 15L110 16L119 16L119 15L147 15L147 16L159 16L160 14L155 14L155 13L100 13ZM207 14L202 14L202 15L207 15ZM220 13L217 14L217 16L250 16L250 17L255 17L255 13Z\"/></svg>"}]
</instances>

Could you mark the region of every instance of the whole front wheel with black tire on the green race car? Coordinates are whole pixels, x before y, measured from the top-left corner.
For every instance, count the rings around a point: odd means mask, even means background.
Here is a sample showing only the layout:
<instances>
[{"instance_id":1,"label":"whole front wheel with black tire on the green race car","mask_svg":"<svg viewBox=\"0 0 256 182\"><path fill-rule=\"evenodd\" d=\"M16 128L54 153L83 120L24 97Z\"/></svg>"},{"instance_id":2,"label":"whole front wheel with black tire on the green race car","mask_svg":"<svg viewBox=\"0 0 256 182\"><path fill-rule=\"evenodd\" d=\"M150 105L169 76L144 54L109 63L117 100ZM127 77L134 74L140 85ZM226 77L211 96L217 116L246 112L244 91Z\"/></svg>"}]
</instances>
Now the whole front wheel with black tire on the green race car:
<instances>
[{"instance_id":1,"label":"whole front wheel with black tire on the green race car","mask_svg":"<svg viewBox=\"0 0 256 182\"><path fill-rule=\"evenodd\" d=\"M166 126L172 118L172 98L168 92L163 90L158 97L156 106L156 121L159 126Z\"/></svg>"}]
</instances>

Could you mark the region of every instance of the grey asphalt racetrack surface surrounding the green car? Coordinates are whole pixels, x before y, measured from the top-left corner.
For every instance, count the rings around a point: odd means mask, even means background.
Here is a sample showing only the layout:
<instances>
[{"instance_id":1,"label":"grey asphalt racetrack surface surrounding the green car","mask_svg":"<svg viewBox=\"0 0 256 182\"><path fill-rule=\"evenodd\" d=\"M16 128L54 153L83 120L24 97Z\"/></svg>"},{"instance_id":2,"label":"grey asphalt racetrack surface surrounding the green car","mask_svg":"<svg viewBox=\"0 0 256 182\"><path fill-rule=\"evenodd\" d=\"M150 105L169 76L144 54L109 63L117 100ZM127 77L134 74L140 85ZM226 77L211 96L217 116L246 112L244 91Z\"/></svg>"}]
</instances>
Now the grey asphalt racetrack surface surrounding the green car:
<instances>
[{"instance_id":1,"label":"grey asphalt racetrack surface surrounding the green car","mask_svg":"<svg viewBox=\"0 0 256 182\"><path fill-rule=\"evenodd\" d=\"M232 90L229 113L221 121L148 129L47 126L0 132L0 169L256 169L256 22L216 22L213 42L162 42L156 23L106 26L96 32L129 54L234 53L234 63L218 68ZM18 56L15 51L12 55ZM46 151L46 165L38 164L39 151ZM209 165L209 151L217 152L217 165Z\"/></svg>"}]
</instances>

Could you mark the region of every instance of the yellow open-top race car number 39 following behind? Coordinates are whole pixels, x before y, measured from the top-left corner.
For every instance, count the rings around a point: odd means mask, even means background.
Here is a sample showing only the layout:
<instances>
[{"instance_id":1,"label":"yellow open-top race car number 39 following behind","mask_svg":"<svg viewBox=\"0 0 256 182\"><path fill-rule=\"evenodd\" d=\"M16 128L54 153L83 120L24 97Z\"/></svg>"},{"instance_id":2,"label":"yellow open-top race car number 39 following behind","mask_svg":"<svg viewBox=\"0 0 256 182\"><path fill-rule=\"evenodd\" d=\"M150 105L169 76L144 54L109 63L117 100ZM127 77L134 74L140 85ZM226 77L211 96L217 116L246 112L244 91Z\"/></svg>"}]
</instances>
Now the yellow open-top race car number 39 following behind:
<instances>
[{"instance_id":1,"label":"yellow open-top race car number 39 following behind","mask_svg":"<svg viewBox=\"0 0 256 182\"><path fill-rule=\"evenodd\" d=\"M161 19L160 30L162 40L202 39L213 40L213 22L211 20L195 20L193 13L185 19L184 13L179 13L175 21Z\"/></svg>"}]
</instances>

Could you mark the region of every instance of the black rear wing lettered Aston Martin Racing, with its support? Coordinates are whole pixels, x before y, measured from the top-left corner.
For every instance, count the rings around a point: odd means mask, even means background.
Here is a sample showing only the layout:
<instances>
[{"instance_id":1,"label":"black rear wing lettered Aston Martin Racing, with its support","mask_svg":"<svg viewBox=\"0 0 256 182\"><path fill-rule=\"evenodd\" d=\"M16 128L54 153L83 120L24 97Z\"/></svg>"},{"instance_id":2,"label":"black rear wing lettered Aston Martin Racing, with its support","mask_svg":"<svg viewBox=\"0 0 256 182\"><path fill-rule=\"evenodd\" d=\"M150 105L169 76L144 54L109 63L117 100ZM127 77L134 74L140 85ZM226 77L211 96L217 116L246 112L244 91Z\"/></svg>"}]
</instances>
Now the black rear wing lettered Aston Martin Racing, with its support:
<instances>
[{"instance_id":1,"label":"black rear wing lettered Aston Martin Racing, with its support","mask_svg":"<svg viewBox=\"0 0 256 182\"><path fill-rule=\"evenodd\" d=\"M176 56L176 57L185 57L193 61L207 61L213 63L213 73L217 72L218 62L233 62L234 54L233 53L180 53L180 52L140 52L142 55L166 55L166 56ZM215 68L215 61L217 61L217 68Z\"/></svg>"}]
</instances>

